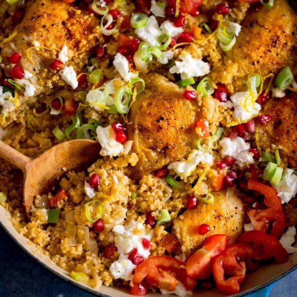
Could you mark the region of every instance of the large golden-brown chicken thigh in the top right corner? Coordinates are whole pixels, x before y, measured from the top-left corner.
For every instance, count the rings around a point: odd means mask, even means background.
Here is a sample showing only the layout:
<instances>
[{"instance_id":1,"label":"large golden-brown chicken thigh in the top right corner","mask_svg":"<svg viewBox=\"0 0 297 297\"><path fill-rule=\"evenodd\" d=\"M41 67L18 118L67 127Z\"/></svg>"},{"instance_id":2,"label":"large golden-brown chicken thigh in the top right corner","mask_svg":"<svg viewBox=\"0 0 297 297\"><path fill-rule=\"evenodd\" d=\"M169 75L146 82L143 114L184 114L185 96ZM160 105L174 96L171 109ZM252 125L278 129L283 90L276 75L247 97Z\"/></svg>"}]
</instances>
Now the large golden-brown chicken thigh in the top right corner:
<instances>
[{"instance_id":1,"label":"large golden-brown chicken thigh in the top right corner","mask_svg":"<svg viewBox=\"0 0 297 297\"><path fill-rule=\"evenodd\" d=\"M242 75L277 74L297 62L297 15L286 0L271 8L252 5L233 47Z\"/></svg>"}]
</instances>

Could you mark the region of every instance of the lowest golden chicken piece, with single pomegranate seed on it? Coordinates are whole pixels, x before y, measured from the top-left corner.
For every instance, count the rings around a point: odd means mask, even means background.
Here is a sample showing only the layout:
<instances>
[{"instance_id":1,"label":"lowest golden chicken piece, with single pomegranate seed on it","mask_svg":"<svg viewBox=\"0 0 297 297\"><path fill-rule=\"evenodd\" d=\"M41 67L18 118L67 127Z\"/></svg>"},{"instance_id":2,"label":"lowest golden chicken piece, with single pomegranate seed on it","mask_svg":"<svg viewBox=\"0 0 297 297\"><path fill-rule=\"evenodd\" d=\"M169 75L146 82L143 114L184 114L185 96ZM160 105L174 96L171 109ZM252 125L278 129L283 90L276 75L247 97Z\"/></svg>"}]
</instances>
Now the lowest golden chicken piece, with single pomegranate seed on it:
<instances>
[{"instance_id":1,"label":"lowest golden chicken piece, with single pomegranate seed on it","mask_svg":"<svg viewBox=\"0 0 297 297\"><path fill-rule=\"evenodd\" d=\"M242 232L243 203L236 195L226 198L223 192L214 192L214 202L200 202L195 209L188 209L173 222L173 233L181 243L182 251L188 256L203 245L205 238L214 234L227 234L234 243ZM205 235L198 227L207 224L210 230Z\"/></svg>"}]
</instances>

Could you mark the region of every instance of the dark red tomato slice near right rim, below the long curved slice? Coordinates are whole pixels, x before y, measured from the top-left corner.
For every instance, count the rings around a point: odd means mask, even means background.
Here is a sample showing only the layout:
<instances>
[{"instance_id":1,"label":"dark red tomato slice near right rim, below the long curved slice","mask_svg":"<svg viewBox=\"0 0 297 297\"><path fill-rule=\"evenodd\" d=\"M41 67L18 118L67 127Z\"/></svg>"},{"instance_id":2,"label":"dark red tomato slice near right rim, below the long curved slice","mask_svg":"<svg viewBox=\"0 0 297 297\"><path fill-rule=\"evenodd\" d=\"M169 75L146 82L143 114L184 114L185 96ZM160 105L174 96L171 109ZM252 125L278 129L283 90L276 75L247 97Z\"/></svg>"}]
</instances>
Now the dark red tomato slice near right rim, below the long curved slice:
<instances>
[{"instance_id":1,"label":"dark red tomato slice near right rim, below the long curved slice","mask_svg":"<svg viewBox=\"0 0 297 297\"><path fill-rule=\"evenodd\" d=\"M251 245L253 248L253 259L268 260L275 257L278 263L285 263L288 260L288 254L279 240L264 231L247 231L240 235L239 242Z\"/></svg>"}]
</instances>

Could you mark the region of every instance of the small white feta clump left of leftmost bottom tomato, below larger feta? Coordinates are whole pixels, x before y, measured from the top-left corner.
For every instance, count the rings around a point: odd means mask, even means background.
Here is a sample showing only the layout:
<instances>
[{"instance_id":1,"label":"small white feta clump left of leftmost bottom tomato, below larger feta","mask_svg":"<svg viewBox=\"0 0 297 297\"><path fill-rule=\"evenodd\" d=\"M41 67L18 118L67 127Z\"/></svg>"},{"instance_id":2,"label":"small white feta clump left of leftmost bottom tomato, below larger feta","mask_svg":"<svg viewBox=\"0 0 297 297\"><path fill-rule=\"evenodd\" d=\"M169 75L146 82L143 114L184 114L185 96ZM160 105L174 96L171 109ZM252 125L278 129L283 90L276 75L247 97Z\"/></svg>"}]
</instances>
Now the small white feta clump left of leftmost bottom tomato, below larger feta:
<instances>
[{"instance_id":1,"label":"small white feta clump left of leftmost bottom tomato, below larger feta","mask_svg":"<svg viewBox=\"0 0 297 297\"><path fill-rule=\"evenodd\" d=\"M110 265L109 270L115 279L130 281L133 279L132 272L135 267L136 265L128 259L128 255L120 254L119 259Z\"/></svg>"}]
</instances>

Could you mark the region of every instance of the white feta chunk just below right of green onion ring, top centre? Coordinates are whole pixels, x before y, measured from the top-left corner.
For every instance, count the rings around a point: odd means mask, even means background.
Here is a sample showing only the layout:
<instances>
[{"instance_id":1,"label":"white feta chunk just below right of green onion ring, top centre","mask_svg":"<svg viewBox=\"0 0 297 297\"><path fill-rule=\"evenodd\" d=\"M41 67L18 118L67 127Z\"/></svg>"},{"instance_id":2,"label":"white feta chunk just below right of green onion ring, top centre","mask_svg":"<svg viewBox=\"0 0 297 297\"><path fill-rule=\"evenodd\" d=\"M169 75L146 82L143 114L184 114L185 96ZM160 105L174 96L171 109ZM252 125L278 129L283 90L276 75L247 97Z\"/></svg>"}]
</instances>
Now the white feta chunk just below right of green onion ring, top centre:
<instances>
[{"instance_id":1,"label":"white feta chunk just below right of green onion ring, top centre","mask_svg":"<svg viewBox=\"0 0 297 297\"><path fill-rule=\"evenodd\" d=\"M157 40L162 34L159 29L158 22L154 15L148 18L146 25L142 28L136 29L135 34L138 38L145 41L150 47L154 47L157 44Z\"/></svg>"}]
</instances>

